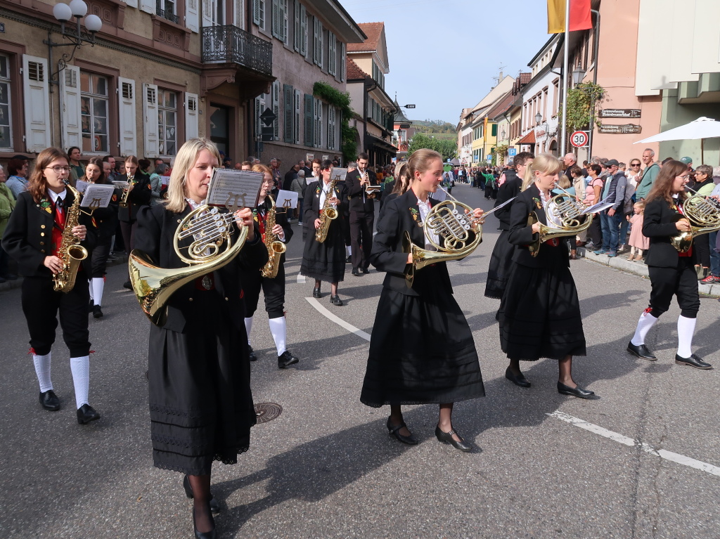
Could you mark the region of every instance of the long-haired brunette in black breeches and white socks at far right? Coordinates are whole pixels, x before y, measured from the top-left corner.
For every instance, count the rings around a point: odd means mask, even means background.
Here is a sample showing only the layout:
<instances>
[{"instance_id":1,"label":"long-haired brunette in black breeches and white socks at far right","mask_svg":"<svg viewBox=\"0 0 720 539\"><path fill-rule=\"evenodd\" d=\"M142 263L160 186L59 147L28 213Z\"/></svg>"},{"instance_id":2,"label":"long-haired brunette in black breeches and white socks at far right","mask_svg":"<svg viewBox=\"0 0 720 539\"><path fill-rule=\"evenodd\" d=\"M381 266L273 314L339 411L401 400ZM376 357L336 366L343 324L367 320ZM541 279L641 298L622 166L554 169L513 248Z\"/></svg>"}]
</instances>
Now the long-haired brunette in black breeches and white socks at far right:
<instances>
[{"instance_id":1,"label":"long-haired brunette in black breeches and white socks at far right","mask_svg":"<svg viewBox=\"0 0 720 539\"><path fill-rule=\"evenodd\" d=\"M683 218L685 184L688 166L670 160L660 169L645 199L642 234L650 238L647 266L650 276L650 305L640 315L628 352L642 359L657 359L645 345L649 330L660 315L670 309L672 296L678 298L678 352L675 363L695 368L712 368L710 363L693 354L693 333L700 309L698 275L693 266L693 248L679 253L670 240L679 232L690 232L690 222Z\"/></svg>"}]
</instances>

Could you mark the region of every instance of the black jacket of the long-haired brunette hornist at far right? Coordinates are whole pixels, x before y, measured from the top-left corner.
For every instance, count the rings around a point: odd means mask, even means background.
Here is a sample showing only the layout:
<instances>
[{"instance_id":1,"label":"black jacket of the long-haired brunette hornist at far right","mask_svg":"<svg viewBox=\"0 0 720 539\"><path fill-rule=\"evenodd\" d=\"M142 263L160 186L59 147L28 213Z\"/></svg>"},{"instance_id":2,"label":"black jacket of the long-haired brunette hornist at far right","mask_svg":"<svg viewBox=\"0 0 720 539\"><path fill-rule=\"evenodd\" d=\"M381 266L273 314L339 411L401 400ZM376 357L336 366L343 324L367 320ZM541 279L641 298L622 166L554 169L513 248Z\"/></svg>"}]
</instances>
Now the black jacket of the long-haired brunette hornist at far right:
<instances>
[{"instance_id":1,"label":"black jacket of the long-haired brunette hornist at far right","mask_svg":"<svg viewBox=\"0 0 720 539\"><path fill-rule=\"evenodd\" d=\"M678 250L672 247L670 237L678 233L675 222L683 214L671 207L665 199L652 199L645 206L642 235L650 238L647 265L657 268L677 268Z\"/></svg>"}]
</instances>

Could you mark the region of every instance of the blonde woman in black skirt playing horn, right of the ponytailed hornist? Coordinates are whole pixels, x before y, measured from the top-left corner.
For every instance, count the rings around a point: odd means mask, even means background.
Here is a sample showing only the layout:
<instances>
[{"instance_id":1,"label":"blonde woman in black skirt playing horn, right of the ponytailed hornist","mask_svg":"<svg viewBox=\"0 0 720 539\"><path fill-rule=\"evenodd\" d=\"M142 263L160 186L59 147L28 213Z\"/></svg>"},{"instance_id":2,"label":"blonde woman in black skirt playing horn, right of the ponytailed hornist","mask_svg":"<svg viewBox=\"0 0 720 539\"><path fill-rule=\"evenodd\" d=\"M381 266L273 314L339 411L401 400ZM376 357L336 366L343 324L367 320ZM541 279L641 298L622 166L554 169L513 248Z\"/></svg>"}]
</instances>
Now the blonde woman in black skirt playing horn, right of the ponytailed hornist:
<instances>
[{"instance_id":1,"label":"blonde woman in black skirt playing horn, right of the ponytailed hornist","mask_svg":"<svg viewBox=\"0 0 720 539\"><path fill-rule=\"evenodd\" d=\"M547 225L546 207L558 181L562 163L552 155L539 155L528 168L532 183L513 201L508 241L516 245L514 267L500 302L500 344L510 359L505 378L521 387L530 382L520 371L520 361L551 358L558 361L557 391L592 399L572 379L572 356L585 355L580 302L570 273L567 243L557 238L540 245L532 256L528 245L537 239L539 223ZM528 225L528 217L539 222Z\"/></svg>"}]
</instances>

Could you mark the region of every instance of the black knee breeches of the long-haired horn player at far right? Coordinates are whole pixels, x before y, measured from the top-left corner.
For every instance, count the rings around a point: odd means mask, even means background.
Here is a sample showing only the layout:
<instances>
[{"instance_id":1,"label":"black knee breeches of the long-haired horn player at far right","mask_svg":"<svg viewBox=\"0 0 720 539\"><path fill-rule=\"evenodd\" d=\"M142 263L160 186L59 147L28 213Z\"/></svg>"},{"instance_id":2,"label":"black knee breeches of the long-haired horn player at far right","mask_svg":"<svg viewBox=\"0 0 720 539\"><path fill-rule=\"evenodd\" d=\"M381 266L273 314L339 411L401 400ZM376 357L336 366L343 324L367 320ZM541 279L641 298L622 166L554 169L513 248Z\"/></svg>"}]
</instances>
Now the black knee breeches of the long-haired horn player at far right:
<instances>
[{"instance_id":1,"label":"black knee breeches of the long-haired horn player at far right","mask_svg":"<svg viewBox=\"0 0 720 539\"><path fill-rule=\"evenodd\" d=\"M678 297L680 314L685 318L696 318L700 310L700 294L698 294L698 274L689 256L678 258L677 268L657 268L649 266L650 309L652 316L659 318L670 309L672 296Z\"/></svg>"}]
</instances>

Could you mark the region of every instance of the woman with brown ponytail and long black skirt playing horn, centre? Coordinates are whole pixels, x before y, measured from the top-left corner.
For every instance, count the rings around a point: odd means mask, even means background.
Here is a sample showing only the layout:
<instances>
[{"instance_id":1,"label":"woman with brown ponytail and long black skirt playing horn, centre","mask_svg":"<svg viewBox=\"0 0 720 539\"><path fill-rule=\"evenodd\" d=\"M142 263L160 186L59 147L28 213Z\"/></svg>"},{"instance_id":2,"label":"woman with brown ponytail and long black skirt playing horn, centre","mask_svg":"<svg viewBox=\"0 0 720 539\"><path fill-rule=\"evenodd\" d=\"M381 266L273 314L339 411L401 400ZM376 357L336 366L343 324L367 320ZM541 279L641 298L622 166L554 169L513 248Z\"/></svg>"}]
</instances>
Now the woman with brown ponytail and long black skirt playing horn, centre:
<instances>
[{"instance_id":1,"label":"woman with brown ponytail and long black skirt playing horn, centre","mask_svg":"<svg viewBox=\"0 0 720 539\"><path fill-rule=\"evenodd\" d=\"M472 332L453 297L446 263L415 273L412 288L404 271L413 255L402 250L405 231L416 245L428 245L423 222L437 201L443 161L433 150L410 157L412 184L405 194L384 205L372 248L372 264L387 272L372 328L360 400L371 407L390 404L387 430L402 443L417 440L402 419L402 404L439 404L435 429L441 443L462 451L472 446L455 432L455 402L485 396ZM480 217L481 210L475 210Z\"/></svg>"}]
</instances>

